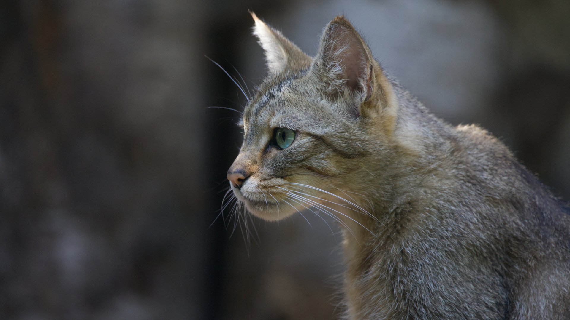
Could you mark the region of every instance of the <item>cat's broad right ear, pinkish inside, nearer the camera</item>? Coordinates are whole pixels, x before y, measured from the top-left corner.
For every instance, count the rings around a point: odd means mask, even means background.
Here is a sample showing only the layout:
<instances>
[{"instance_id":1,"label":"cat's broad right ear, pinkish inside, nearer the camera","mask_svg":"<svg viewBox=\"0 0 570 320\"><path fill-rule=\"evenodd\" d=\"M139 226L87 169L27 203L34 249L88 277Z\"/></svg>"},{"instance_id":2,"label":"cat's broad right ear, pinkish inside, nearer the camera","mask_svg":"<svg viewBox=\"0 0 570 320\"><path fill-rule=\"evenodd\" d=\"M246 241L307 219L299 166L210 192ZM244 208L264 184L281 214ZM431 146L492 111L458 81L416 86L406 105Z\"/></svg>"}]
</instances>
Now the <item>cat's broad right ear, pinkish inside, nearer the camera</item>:
<instances>
[{"instance_id":1,"label":"cat's broad right ear, pinkish inside, nearer the camera","mask_svg":"<svg viewBox=\"0 0 570 320\"><path fill-rule=\"evenodd\" d=\"M358 115L359 102L373 94L373 62L364 40L346 18L339 16L325 27L312 69L329 95L353 100L351 113Z\"/></svg>"}]
</instances>

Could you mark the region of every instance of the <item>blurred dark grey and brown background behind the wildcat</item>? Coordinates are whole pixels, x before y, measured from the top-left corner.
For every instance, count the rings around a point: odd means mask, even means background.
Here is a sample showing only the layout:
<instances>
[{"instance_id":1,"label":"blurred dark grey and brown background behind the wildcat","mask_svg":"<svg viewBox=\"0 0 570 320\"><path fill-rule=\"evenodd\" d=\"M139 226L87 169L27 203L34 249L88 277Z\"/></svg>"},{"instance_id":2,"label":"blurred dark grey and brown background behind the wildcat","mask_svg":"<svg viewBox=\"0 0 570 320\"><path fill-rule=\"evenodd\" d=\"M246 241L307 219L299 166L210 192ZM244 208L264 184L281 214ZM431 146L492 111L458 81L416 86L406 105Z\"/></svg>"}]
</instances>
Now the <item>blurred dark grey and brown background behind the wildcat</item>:
<instances>
[{"instance_id":1,"label":"blurred dark grey and brown background behind the wildcat","mask_svg":"<svg viewBox=\"0 0 570 320\"><path fill-rule=\"evenodd\" d=\"M245 97L204 55L255 88L248 9L310 55L345 14L435 114L570 199L567 0L2 0L0 319L339 315L332 221L253 219L248 245L215 220L241 137L207 107Z\"/></svg>"}]
</instances>

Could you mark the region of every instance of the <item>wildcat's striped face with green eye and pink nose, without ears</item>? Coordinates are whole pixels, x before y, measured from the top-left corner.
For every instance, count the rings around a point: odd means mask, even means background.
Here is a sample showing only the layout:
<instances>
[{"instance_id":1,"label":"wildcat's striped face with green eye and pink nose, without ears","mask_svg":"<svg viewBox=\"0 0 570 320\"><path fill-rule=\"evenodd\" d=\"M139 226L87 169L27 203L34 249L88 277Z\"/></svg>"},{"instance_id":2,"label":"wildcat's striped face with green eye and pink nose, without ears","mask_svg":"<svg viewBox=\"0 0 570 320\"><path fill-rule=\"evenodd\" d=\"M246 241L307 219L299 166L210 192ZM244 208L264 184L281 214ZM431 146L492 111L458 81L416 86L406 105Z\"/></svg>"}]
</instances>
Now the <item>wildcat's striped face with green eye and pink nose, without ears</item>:
<instances>
[{"instance_id":1,"label":"wildcat's striped face with green eye and pink nose, without ears","mask_svg":"<svg viewBox=\"0 0 570 320\"><path fill-rule=\"evenodd\" d=\"M243 174L231 188L259 218L316 206L367 155L360 120L322 99L307 73L268 80L243 113L243 145L228 172Z\"/></svg>"}]
</instances>

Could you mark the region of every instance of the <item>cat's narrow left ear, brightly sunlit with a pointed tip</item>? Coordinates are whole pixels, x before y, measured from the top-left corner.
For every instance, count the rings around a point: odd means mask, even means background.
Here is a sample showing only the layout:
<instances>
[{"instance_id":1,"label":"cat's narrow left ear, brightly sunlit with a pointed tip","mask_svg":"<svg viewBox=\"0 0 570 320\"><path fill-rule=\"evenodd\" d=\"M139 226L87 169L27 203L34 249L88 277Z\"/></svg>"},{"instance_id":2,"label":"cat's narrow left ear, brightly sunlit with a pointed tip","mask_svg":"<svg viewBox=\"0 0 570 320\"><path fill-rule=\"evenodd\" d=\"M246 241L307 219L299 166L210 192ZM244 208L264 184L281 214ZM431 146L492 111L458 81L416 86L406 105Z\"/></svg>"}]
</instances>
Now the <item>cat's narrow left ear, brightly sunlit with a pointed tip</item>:
<instances>
[{"instance_id":1,"label":"cat's narrow left ear, brightly sunlit with a pointed tip","mask_svg":"<svg viewBox=\"0 0 570 320\"><path fill-rule=\"evenodd\" d=\"M268 26L257 15L250 11L255 24L253 34L259 39L259 44L265 51L267 68L270 74L278 74L284 70L298 71L310 67L311 58L285 38L281 32Z\"/></svg>"}]
</instances>

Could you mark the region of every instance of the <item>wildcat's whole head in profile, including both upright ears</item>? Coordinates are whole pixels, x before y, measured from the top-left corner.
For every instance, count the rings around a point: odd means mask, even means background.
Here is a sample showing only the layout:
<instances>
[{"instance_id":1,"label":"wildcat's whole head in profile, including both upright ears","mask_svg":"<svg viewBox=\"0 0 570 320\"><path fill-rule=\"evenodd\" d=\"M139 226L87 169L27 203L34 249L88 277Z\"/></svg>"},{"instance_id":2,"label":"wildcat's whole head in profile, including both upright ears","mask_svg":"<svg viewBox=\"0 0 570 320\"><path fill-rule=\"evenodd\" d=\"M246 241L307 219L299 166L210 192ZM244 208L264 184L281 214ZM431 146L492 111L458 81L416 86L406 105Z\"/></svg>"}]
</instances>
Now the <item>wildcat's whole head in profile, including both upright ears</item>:
<instances>
[{"instance_id":1,"label":"wildcat's whole head in profile, including both upright ears","mask_svg":"<svg viewBox=\"0 0 570 320\"><path fill-rule=\"evenodd\" d=\"M392 86L344 17L325 27L311 58L252 15L269 74L243 112L227 174L235 196L266 220L350 199L393 133Z\"/></svg>"}]
</instances>

